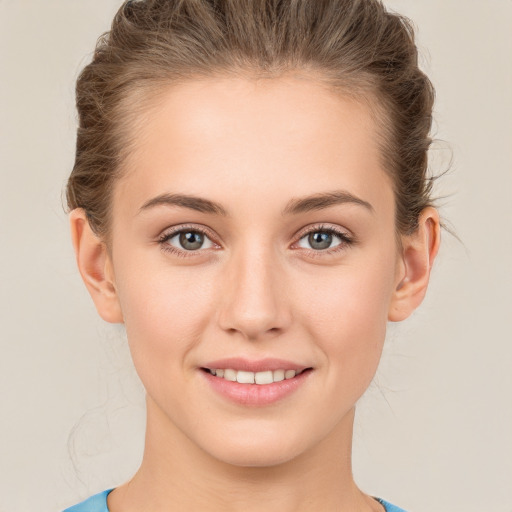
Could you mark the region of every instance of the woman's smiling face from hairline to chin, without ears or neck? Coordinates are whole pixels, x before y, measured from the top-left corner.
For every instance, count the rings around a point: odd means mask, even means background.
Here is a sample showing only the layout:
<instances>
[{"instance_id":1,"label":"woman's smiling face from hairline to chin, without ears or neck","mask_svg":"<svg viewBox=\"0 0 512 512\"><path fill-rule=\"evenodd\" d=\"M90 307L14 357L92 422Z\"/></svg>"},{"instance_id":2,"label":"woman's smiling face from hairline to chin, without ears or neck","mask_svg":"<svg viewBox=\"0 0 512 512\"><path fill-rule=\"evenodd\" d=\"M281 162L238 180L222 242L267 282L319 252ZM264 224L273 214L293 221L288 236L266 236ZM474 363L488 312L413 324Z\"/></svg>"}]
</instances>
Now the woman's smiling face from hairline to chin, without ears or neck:
<instances>
[{"instance_id":1,"label":"woman's smiling face from hairline to chin, without ears or neck","mask_svg":"<svg viewBox=\"0 0 512 512\"><path fill-rule=\"evenodd\" d=\"M297 77L190 81L154 107L111 245L148 429L237 465L314 451L369 385L400 279L377 128Z\"/></svg>"}]
</instances>

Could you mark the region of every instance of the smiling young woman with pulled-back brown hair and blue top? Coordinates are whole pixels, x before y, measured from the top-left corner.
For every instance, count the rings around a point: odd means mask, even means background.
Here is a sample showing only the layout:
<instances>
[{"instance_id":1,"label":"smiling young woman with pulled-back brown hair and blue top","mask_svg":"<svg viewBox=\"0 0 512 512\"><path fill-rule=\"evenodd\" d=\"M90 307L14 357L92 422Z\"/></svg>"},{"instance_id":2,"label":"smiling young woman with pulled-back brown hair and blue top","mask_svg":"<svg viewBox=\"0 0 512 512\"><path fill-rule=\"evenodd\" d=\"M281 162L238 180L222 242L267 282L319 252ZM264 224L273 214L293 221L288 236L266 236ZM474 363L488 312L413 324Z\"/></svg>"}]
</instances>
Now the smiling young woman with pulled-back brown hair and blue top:
<instances>
[{"instance_id":1,"label":"smiling young woman with pulled-back brown hair and blue top","mask_svg":"<svg viewBox=\"0 0 512 512\"><path fill-rule=\"evenodd\" d=\"M355 484L352 429L439 247L433 96L377 0L120 8L78 80L67 196L146 444L68 512L401 510Z\"/></svg>"}]
</instances>

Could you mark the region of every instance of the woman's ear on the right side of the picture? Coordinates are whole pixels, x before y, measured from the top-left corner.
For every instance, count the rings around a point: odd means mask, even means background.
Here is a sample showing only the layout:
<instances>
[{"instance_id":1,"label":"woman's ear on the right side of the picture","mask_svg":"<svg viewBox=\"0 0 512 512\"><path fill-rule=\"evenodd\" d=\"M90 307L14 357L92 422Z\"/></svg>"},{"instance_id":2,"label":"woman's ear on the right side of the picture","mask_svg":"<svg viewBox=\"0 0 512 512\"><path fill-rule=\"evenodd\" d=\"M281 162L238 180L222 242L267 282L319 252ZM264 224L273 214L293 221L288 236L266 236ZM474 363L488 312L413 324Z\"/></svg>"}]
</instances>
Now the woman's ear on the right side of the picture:
<instances>
[{"instance_id":1,"label":"woman's ear on the right side of the picture","mask_svg":"<svg viewBox=\"0 0 512 512\"><path fill-rule=\"evenodd\" d=\"M440 242L439 214L435 208L425 208L416 231L402 237L397 284L388 312L391 322L405 320L421 304Z\"/></svg>"}]
</instances>

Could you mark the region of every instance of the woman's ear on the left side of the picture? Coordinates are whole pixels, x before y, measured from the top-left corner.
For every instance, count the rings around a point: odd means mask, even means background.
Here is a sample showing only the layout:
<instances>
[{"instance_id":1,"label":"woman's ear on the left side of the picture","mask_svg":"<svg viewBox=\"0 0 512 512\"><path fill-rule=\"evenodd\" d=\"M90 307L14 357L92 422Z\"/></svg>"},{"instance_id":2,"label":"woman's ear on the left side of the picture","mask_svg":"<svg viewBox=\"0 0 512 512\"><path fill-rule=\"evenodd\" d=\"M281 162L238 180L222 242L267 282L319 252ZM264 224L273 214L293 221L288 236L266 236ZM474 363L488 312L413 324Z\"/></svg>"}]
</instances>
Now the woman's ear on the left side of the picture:
<instances>
[{"instance_id":1,"label":"woman's ear on the left side of the picture","mask_svg":"<svg viewBox=\"0 0 512 512\"><path fill-rule=\"evenodd\" d=\"M91 229L82 208L69 214L71 237L80 275L103 320L122 323L112 261L107 246Z\"/></svg>"}]
</instances>

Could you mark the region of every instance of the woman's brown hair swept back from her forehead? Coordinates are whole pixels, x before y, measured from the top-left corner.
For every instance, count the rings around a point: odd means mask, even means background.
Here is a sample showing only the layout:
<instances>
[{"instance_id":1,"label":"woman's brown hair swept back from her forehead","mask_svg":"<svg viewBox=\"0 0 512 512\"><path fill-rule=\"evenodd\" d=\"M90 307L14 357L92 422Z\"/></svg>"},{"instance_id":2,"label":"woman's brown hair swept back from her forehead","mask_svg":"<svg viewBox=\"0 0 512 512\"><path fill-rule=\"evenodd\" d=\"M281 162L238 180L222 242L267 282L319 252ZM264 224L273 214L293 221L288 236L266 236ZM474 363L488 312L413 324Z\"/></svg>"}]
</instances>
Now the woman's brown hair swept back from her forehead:
<instances>
[{"instance_id":1,"label":"woman's brown hair swept back from her forehead","mask_svg":"<svg viewBox=\"0 0 512 512\"><path fill-rule=\"evenodd\" d=\"M77 81L68 207L84 208L93 230L108 235L112 186L129 152L130 128L151 93L198 76L290 71L313 71L368 101L383 133L397 230L414 231L431 204L434 90L418 67L411 22L380 0L125 2Z\"/></svg>"}]
</instances>

